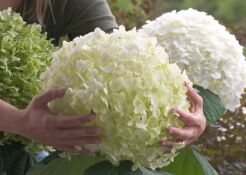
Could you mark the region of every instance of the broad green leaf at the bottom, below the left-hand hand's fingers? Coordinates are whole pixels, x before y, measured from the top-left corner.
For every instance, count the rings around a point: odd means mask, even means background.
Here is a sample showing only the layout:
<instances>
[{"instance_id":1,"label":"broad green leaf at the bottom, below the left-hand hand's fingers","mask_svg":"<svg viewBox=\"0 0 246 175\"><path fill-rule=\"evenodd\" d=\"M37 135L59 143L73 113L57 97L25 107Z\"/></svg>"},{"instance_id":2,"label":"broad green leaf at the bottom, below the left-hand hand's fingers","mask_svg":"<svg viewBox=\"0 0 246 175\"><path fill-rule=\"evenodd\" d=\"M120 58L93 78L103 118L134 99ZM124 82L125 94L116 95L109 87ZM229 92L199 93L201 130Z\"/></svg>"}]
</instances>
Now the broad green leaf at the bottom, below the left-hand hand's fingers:
<instances>
[{"instance_id":1,"label":"broad green leaf at the bottom, below the left-hand hand's fingers","mask_svg":"<svg viewBox=\"0 0 246 175\"><path fill-rule=\"evenodd\" d=\"M47 159L34 166L27 175L83 175L88 167L103 160L99 156L86 155L72 156L71 160L59 157L47 162Z\"/></svg>"}]
</instances>

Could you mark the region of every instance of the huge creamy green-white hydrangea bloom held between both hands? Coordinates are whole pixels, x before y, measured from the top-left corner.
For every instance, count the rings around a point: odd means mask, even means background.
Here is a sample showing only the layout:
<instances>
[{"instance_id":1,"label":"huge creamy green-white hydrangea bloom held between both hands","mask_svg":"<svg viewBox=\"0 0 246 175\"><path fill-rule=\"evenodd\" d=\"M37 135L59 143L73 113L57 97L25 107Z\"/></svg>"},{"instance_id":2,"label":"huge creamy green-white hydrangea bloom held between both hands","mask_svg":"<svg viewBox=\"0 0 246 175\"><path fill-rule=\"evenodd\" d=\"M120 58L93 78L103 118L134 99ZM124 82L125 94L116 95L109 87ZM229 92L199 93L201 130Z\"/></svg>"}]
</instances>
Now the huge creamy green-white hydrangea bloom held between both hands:
<instances>
[{"instance_id":1,"label":"huge creamy green-white hydrangea bloom held between both hands","mask_svg":"<svg viewBox=\"0 0 246 175\"><path fill-rule=\"evenodd\" d=\"M166 148L160 140L171 139L166 134L170 125L183 126L169 110L188 111L183 86L188 77L169 64L155 38L123 27L112 34L96 29L64 43L42 79L43 89L69 88L63 99L50 104L52 111L95 113L91 124L103 128L96 149L115 165L131 160L134 169L156 169L172 161L181 147Z\"/></svg>"}]
</instances>

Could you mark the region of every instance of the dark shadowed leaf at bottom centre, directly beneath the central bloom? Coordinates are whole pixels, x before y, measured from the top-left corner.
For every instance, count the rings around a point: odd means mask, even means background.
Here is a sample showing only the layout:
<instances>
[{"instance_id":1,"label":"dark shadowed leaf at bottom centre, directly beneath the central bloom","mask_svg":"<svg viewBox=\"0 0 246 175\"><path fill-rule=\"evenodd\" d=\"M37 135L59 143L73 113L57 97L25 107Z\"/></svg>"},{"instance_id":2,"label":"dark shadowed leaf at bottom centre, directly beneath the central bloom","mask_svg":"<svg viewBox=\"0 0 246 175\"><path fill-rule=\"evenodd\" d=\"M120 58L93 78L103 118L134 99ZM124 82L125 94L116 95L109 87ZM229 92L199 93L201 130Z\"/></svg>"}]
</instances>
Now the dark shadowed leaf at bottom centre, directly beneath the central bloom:
<instances>
[{"instance_id":1,"label":"dark shadowed leaf at bottom centre, directly beneath the central bloom","mask_svg":"<svg viewBox=\"0 0 246 175\"><path fill-rule=\"evenodd\" d=\"M133 163L130 161L123 161L116 167L108 161L102 161L88 168L84 175L171 175L166 172L151 171L146 168L132 171L132 165Z\"/></svg>"}]
</instances>

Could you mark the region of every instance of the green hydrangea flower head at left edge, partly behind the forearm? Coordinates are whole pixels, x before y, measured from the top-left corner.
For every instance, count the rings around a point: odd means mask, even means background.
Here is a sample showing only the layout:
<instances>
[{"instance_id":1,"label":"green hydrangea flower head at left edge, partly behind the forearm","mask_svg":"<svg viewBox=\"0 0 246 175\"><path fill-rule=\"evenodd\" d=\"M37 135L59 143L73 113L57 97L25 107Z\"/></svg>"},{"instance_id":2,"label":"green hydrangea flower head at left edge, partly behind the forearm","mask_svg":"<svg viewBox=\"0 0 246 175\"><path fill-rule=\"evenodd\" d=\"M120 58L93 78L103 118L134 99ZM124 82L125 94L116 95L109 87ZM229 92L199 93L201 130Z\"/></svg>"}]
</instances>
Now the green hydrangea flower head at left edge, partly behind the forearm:
<instances>
[{"instance_id":1,"label":"green hydrangea flower head at left edge, partly behind the forearm","mask_svg":"<svg viewBox=\"0 0 246 175\"><path fill-rule=\"evenodd\" d=\"M11 9L0 11L0 99L24 108L41 89L40 74L55 48L40 25L27 25ZM20 136L0 133L0 144L21 141L29 150L44 147Z\"/></svg>"}]
</instances>

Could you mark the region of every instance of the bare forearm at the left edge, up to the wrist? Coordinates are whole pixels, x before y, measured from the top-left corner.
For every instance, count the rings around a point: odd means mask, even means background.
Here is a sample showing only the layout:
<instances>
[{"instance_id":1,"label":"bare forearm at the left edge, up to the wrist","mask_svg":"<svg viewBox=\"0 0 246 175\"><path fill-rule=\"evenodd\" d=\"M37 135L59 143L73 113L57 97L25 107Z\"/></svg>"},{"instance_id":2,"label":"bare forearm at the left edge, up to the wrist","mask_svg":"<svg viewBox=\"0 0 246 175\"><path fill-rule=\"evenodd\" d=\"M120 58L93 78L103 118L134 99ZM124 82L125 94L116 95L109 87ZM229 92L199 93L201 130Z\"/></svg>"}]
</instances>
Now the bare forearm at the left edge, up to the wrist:
<instances>
[{"instance_id":1,"label":"bare forearm at the left edge, up to the wrist","mask_svg":"<svg viewBox=\"0 0 246 175\"><path fill-rule=\"evenodd\" d=\"M0 131L16 133L21 116L22 110L0 99Z\"/></svg>"}]
</instances>

